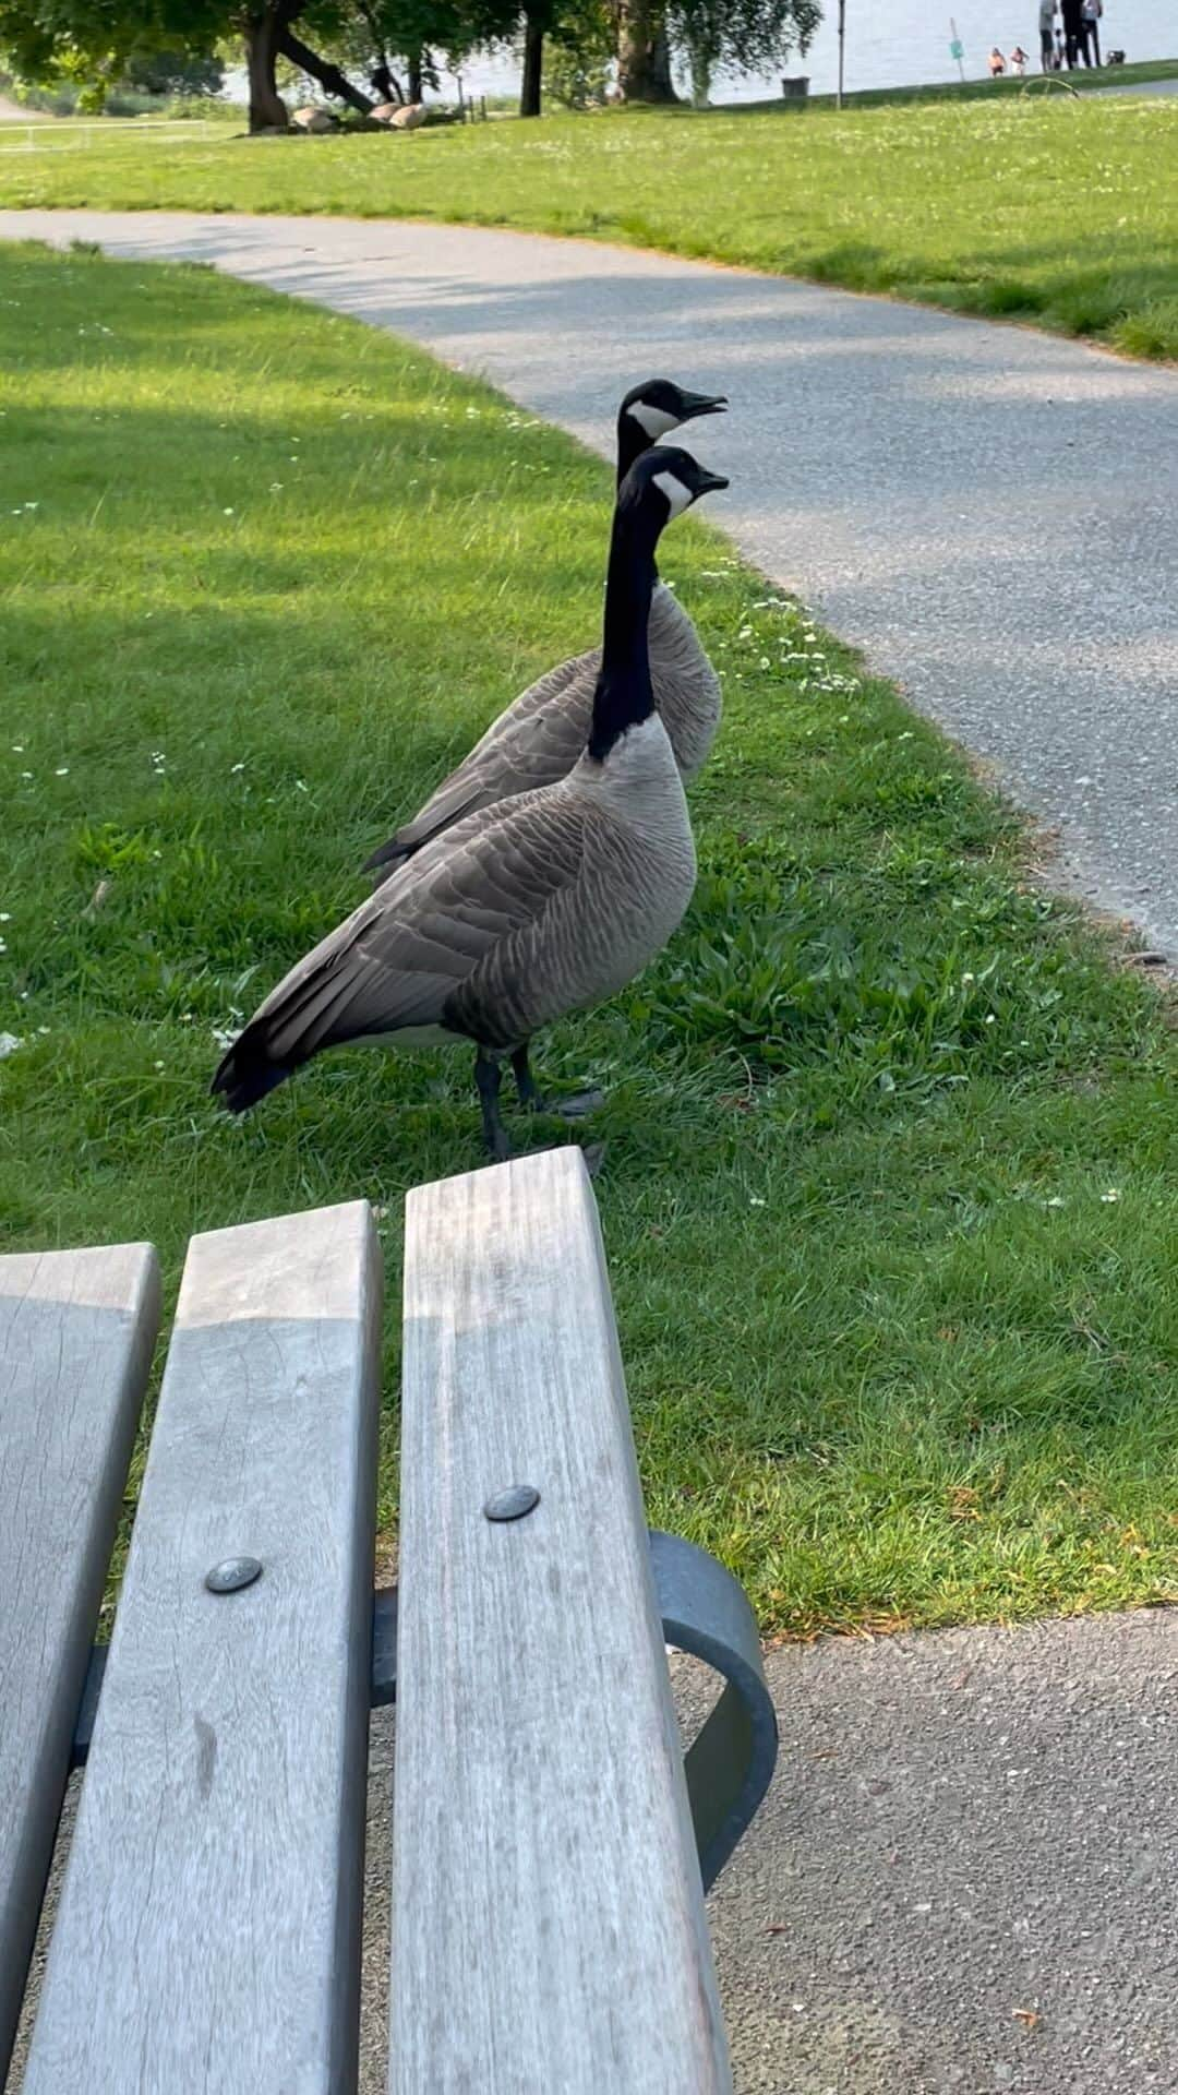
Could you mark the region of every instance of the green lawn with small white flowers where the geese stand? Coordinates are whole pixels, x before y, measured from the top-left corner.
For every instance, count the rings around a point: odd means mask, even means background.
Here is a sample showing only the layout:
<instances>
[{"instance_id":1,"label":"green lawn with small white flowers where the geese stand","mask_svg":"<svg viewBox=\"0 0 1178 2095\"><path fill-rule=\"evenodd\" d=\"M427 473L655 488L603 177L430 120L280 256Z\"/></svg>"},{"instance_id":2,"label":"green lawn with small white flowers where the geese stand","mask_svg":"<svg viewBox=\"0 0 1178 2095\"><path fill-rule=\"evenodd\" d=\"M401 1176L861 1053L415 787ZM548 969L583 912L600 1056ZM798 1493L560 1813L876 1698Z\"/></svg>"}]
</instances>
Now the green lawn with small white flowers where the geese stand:
<instances>
[{"instance_id":1,"label":"green lawn with small white flowers where the geese stand","mask_svg":"<svg viewBox=\"0 0 1178 2095\"><path fill-rule=\"evenodd\" d=\"M593 639L610 473L208 270L6 247L0 339L4 1242L147 1236L174 1288L193 1230L371 1198L392 1536L402 1194L480 1163L470 1054L337 1054L245 1123L208 1081L373 842ZM1174 1596L1165 1012L713 526L664 572L725 677L698 897L537 1058L610 1094L650 1517L769 1632Z\"/></svg>"}]
</instances>

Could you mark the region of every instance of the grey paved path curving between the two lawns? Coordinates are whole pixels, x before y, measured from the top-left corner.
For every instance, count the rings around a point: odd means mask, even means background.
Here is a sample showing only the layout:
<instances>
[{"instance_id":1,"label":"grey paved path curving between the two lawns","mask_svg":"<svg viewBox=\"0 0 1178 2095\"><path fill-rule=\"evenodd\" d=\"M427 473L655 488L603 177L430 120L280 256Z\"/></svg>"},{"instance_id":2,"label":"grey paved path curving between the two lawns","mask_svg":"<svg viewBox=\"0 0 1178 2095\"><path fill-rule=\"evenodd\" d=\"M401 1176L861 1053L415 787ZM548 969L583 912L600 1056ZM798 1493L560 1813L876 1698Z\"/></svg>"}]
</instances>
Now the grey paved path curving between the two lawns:
<instances>
[{"instance_id":1,"label":"grey paved path curving between the two lawns","mask_svg":"<svg viewBox=\"0 0 1178 2095\"><path fill-rule=\"evenodd\" d=\"M1178 373L637 249L337 218L0 212L390 327L589 444L667 371L708 515L1059 832L1061 886L1178 953ZM671 555L669 555L671 557ZM1176 2072L1178 2085L1178 2072Z\"/></svg>"}]
</instances>

